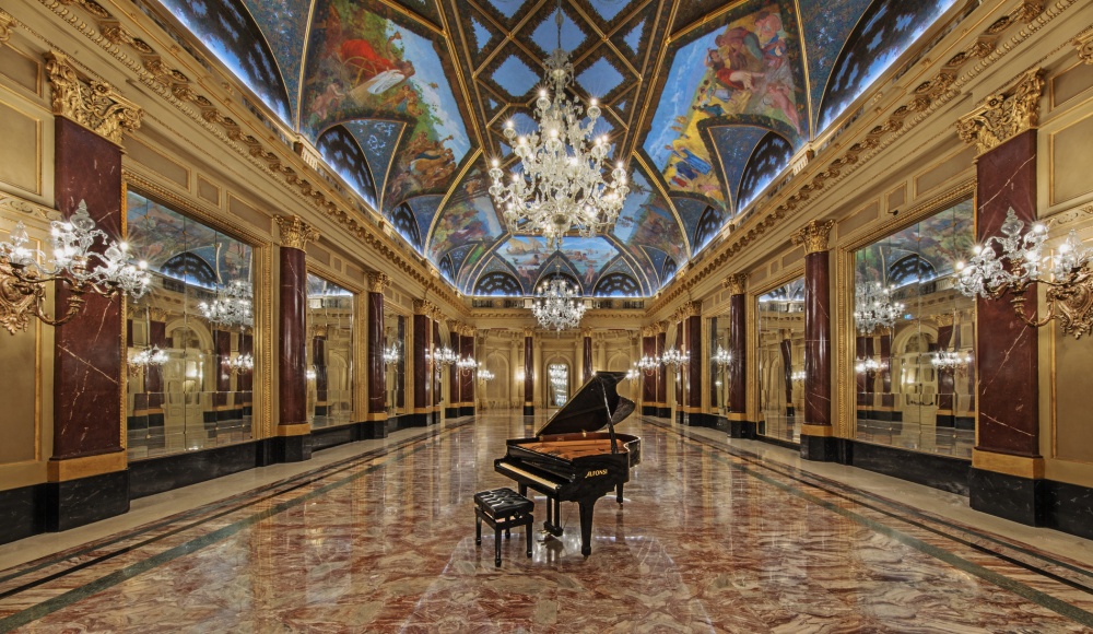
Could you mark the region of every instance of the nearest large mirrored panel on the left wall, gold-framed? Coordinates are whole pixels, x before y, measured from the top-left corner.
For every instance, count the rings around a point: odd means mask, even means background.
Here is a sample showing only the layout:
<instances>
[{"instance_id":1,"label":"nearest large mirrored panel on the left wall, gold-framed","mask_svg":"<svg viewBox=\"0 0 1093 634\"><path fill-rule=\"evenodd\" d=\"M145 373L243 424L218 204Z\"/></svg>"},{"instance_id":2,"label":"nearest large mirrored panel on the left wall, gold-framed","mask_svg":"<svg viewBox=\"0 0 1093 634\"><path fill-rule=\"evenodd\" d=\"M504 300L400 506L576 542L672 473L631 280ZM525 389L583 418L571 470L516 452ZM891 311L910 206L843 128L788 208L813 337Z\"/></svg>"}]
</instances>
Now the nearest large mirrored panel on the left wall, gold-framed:
<instances>
[{"instance_id":1,"label":"nearest large mirrored panel on the left wall, gold-framed","mask_svg":"<svg viewBox=\"0 0 1093 634\"><path fill-rule=\"evenodd\" d=\"M249 441L252 248L136 191L126 204L130 250L153 277L126 322L129 458Z\"/></svg>"}]
</instances>

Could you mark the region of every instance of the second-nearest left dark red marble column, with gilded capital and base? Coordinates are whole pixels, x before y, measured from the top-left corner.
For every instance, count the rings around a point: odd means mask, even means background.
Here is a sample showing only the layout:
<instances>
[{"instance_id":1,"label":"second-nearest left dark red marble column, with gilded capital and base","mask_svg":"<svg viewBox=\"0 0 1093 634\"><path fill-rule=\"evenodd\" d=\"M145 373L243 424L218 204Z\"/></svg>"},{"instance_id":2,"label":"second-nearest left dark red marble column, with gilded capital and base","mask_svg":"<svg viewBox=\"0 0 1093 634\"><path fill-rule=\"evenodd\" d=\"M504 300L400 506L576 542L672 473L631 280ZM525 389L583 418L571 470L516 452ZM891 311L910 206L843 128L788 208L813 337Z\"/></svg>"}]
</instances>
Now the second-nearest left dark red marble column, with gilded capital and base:
<instances>
[{"instance_id":1,"label":"second-nearest left dark red marble column, with gilded capital and base","mask_svg":"<svg viewBox=\"0 0 1093 634\"><path fill-rule=\"evenodd\" d=\"M307 243L319 233L298 216L274 216L281 231L281 292L278 305L278 411L273 459L299 462L312 457L307 422Z\"/></svg>"}]
</instances>

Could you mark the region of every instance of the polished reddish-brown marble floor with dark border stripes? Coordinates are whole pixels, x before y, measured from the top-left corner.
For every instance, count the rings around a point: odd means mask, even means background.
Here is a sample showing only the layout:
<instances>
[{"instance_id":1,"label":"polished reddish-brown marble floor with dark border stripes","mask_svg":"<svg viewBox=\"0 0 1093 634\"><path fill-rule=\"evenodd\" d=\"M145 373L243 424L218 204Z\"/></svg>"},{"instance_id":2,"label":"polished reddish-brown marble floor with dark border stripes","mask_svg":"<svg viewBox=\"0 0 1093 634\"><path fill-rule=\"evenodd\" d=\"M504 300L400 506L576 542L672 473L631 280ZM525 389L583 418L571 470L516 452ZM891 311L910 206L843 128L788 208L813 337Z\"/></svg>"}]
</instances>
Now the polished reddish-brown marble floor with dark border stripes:
<instances>
[{"instance_id":1,"label":"polished reddish-brown marble floor with dark border stripes","mask_svg":"<svg viewBox=\"0 0 1093 634\"><path fill-rule=\"evenodd\" d=\"M487 413L0 548L0 632L1088 632L1093 544L959 496L632 418L643 459L493 564L474 492L531 424ZM538 501L537 517L541 516Z\"/></svg>"}]
</instances>

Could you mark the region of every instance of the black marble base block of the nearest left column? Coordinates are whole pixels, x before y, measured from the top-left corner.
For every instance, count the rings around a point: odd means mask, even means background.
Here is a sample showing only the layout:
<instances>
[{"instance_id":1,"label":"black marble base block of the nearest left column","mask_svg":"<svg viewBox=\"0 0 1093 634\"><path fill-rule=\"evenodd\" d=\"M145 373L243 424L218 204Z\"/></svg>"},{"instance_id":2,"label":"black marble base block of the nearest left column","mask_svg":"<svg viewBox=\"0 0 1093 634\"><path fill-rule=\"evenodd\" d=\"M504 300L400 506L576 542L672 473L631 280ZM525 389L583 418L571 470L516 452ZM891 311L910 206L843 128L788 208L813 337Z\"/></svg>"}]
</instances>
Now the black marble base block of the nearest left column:
<instances>
[{"instance_id":1,"label":"black marble base block of the nearest left column","mask_svg":"<svg viewBox=\"0 0 1093 634\"><path fill-rule=\"evenodd\" d=\"M129 471L42 485L43 528L69 530L129 512Z\"/></svg>"}]
</instances>

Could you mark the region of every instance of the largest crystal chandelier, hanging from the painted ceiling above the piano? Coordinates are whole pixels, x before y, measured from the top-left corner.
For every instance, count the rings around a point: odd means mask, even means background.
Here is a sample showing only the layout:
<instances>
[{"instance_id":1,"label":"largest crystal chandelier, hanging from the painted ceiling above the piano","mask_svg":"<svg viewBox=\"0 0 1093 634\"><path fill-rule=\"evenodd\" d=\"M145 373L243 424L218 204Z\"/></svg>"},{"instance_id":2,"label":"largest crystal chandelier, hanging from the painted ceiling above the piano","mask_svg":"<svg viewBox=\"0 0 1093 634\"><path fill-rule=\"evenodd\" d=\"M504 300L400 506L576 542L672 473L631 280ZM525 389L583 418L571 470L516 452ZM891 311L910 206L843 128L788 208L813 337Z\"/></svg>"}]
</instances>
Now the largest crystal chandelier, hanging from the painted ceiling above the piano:
<instances>
[{"instance_id":1,"label":"largest crystal chandelier, hanging from the painted ceiling above the piano","mask_svg":"<svg viewBox=\"0 0 1093 634\"><path fill-rule=\"evenodd\" d=\"M601 114L598 102L591 99L586 113L565 93L573 83L573 63L562 49L561 0L555 22L557 48L543 62L544 82L552 86L553 98L550 90L539 92L538 131L517 136L513 121L505 124L505 138L521 169L514 172L506 185L497 160L490 168L490 195L503 210L508 231L542 235L548 248L559 246L571 228L585 237L606 231L619 218L630 192L621 162L611 171L611 181L604 180L610 143L606 134L590 139ZM587 124L583 124L585 114Z\"/></svg>"}]
</instances>

